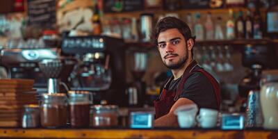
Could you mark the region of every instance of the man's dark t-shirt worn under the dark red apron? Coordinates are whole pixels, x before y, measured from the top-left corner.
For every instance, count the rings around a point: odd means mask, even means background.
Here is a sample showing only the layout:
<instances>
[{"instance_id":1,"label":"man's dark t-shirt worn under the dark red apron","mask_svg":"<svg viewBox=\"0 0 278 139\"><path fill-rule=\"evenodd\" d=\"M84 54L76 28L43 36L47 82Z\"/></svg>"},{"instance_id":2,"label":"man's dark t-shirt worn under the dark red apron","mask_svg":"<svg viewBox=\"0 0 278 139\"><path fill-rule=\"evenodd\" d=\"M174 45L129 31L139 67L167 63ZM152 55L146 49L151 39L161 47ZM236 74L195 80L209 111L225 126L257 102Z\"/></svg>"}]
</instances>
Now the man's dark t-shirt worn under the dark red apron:
<instances>
[{"instance_id":1,"label":"man's dark t-shirt worn under the dark red apron","mask_svg":"<svg viewBox=\"0 0 278 139\"><path fill-rule=\"evenodd\" d=\"M199 70L202 67L198 65L194 67L193 70ZM179 81L181 81L182 76L174 80L171 79L168 85L166 85L167 90L177 90ZM179 98L184 97L193 101L199 108L213 108L218 109L217 100L215 98L215 92L213 90L213 85L209 79L202 74L202 72L193 72L188 76L188 79L183 85L183 91Z\"/></svg>"}]
</instances>

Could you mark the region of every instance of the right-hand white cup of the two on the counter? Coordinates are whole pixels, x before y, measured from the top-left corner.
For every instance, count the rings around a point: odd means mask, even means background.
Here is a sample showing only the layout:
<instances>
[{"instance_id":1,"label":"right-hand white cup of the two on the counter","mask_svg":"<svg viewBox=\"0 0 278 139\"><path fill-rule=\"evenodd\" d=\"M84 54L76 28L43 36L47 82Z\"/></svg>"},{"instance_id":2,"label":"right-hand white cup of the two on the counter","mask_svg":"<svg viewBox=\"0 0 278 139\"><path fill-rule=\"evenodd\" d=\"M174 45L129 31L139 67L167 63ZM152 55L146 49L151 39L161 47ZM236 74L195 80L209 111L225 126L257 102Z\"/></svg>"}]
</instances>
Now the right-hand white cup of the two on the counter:
<instances>
[{"instance_id":1,"label":"right-hand white cup of the two on the counter","mask_svg":"<svg viewBox=\"0 0 278 139\"><path fill-rule=\"evenodd\" d=\"M200 108L197 120L202 128L213 128L218 121L218 111L210 108Z\"/></svg>"}]
</instances>

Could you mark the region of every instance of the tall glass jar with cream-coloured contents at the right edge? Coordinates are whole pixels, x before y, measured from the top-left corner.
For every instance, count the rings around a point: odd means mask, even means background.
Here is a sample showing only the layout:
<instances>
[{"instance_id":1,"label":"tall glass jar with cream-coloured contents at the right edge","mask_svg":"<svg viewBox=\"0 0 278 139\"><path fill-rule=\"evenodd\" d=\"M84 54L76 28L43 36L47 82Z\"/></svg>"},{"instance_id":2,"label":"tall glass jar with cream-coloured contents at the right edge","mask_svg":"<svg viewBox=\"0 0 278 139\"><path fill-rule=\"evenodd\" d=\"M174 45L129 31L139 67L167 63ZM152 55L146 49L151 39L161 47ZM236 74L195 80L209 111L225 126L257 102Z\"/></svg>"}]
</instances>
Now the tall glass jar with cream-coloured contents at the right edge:
<instances>
[{"instance_id":1,"label":"tall glass jar with cream-coloured contents at the right edge","mask_svg":"<svg viewBox=\"0 0 278 139\"><path fill-rule=\"evenodd\" d=\"M278 129L278 70L263 71L260 98L263 128Z\"/></svg>"}]
</instances>

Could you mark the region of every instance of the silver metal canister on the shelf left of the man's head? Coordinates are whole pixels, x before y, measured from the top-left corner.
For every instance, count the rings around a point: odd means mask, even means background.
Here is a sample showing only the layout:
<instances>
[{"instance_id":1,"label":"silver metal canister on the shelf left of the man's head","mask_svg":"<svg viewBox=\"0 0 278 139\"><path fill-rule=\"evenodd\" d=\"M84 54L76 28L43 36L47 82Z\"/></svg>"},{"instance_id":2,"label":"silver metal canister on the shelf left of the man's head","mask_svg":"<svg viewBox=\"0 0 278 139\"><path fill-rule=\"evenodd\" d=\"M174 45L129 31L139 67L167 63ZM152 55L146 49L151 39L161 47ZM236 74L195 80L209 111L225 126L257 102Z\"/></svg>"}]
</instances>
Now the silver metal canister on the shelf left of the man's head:
<instances>
[{"instance_id":1,"label":"silver metal canister on the shelf left of the man's head","mask_svg":"<svg viewBox=\"0 0 278 139\"><path fill-rule=\"evenodd\" d=\"M141 34L142 34L142 42L151 41L152 36L152 28L153 28L153 15L152 14L142 14L140 16L141 19Z\"/></svg>"}]
</instances>

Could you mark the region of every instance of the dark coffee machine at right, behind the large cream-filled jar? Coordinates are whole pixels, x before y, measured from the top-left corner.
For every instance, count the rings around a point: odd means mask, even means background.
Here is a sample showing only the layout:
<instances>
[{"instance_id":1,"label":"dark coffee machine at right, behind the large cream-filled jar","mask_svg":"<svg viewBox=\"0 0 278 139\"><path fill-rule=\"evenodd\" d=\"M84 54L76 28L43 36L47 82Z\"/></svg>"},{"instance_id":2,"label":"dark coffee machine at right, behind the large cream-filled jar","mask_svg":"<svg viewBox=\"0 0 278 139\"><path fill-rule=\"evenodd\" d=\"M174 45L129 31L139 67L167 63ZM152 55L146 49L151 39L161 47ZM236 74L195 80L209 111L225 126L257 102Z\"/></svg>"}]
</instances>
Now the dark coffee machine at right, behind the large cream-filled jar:
<instances>
[{"instance_id":1,"label":"dark coffee machine at right, behind the large cream-filled jar","mask_svg":"<svg viewBox=\"0 0 278 139\"><path fill-rule=\"evenodd\" d=\"M243 99L240 111L245 112L250 90L260 90L261 73L265 69L277 68L275 47L272 44L247 44L242 50L242 64L247 67L246 75L238 84L239 96Z\"/></svg>"}]
</instances>

